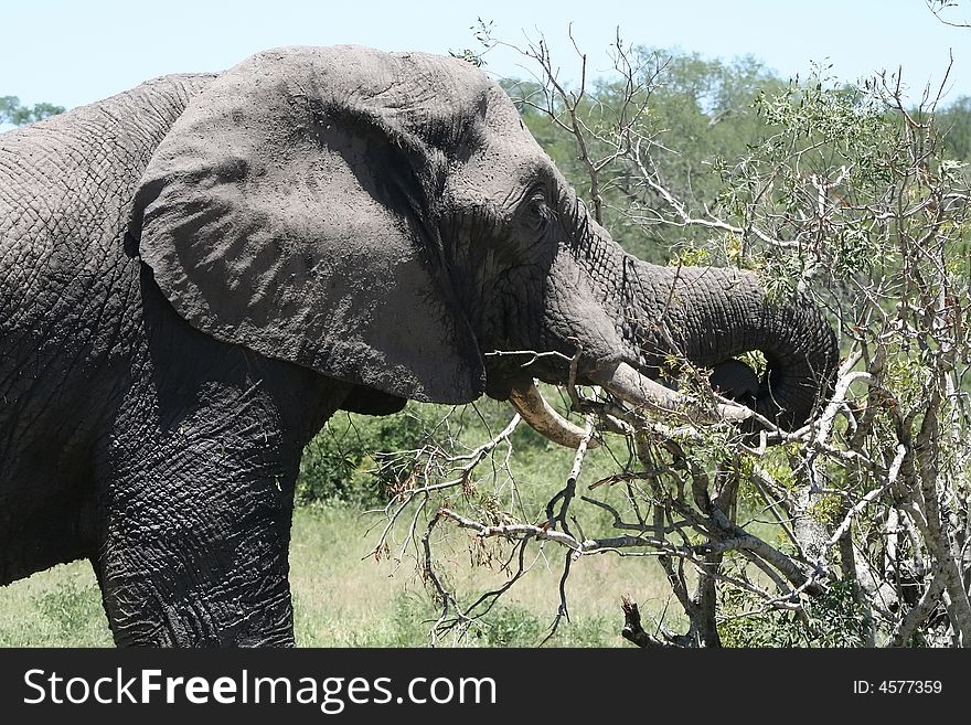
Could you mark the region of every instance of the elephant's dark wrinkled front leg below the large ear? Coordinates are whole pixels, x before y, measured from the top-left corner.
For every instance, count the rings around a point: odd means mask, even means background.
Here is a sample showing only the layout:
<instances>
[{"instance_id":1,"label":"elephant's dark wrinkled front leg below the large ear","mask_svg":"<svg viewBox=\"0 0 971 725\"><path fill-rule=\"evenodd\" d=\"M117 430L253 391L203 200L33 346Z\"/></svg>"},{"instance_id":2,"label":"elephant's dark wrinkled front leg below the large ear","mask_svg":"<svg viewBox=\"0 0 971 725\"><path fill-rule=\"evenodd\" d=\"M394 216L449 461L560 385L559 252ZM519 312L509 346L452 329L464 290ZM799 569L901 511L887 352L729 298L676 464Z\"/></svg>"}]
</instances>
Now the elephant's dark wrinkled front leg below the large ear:
<instances>
[{"instance_id":1,"label":"elephant's dark wrinkled front leg below the large ear","mask_svg":"<svg viewBox=\"0 0 971 725\"><path fill-rule=\"evenodd\" d=\"M142 268L145 328L95 451L93 557L124 646L290 646L306 443L351 391L191 328Z\"/></svg>"}]
</instances>

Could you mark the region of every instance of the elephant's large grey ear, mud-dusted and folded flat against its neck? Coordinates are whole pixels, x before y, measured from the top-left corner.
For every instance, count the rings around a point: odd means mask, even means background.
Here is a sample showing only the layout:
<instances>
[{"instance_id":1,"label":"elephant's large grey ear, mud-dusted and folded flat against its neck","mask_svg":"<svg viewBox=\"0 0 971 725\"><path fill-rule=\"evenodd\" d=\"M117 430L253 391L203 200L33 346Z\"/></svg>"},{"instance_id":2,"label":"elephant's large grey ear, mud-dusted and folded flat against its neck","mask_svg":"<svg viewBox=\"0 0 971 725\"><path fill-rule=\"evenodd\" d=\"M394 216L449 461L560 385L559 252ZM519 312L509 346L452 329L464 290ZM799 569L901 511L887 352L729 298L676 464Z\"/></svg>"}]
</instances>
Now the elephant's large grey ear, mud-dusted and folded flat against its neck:
<instances>
[{"instance_id":1,"label":"elephant's large grey ear, mud-dusted and folded flat against its neck","mask_svg":"<svg viewBox=\"0 0 971 725\"><path fill-rule=\"evenodd\" d=\"M151 158L129 231L193 327L397 397L474 399L437 225L441 154L398 122L402 58L284 49L217 77Z\"/></svg>"}]
</instances>

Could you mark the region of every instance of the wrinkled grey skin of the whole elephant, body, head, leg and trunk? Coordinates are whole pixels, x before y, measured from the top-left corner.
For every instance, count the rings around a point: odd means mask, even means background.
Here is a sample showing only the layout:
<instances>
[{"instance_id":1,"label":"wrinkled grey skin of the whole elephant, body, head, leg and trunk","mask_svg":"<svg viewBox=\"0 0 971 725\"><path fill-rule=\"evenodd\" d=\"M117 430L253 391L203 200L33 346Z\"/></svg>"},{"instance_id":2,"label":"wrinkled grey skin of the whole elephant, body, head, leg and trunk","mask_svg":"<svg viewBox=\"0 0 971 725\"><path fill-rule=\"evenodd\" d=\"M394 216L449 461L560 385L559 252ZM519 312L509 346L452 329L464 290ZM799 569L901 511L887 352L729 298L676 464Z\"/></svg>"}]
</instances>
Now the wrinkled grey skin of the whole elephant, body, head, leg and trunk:
<instances>
[{"instance_id":1,"label":"wrinkled grey skin of the whole elephant, body, head, leg and trunk","mask_svg":"<svg viewBox=\"0 0 971 725\"><path fill-rule=\"evenodd\" d=\"M294 482L337 409L566 377L493 350L655 374L669 339L764 351L753 405L791 426L835 343L762 297L625 254L458 60L282 49L7 132L0 584L86 557L119 644L290 644Z\"/></svg>"}]
</instances>

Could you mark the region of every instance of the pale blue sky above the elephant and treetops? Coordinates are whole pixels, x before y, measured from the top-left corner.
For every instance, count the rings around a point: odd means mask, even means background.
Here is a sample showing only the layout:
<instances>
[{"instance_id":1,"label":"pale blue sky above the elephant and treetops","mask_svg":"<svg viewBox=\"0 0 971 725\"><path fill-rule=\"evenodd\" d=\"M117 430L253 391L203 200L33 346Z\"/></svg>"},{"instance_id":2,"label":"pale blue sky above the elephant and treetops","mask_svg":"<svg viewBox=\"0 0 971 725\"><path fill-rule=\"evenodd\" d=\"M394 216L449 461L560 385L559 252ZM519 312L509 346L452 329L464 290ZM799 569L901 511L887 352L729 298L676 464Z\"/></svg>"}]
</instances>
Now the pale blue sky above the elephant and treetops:
<instances>
[{"instance_id":1,"label":"pale blue sky above the elephant and treetops","mask_svg":"<svg viewBox=\"0 0 971 725\"><path fill-rule=\"evenodd\" d=\"M971 15L971 2L959 10ZM903 66L914 97L940 83L952 51L948 98L971 95L971 29L939 23L924 0L0 0L0 95L72 107L288 44L447 53L477 46L478 17L510 41L541 30L564 66L573 64L572 22L595 71L609 64L605 50L620 26L625 40L648 46L751 54L783 77L804 76L812 62L832 63L846 81ZM495 75L524 75L512 52L487 60Z\"/></svg>"}]
</instances>

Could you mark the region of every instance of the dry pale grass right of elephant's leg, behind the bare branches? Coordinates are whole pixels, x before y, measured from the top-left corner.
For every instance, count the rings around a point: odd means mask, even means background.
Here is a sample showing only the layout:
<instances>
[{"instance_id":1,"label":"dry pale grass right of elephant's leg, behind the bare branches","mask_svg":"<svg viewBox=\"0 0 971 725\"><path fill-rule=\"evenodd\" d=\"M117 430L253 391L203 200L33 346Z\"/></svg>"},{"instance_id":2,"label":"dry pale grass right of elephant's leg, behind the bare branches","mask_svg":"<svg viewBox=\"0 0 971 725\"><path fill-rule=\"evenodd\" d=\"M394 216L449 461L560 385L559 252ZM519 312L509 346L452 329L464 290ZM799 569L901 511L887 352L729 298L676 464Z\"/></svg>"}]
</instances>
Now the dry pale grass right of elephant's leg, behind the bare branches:
<instances>
[{"instance_id":1,"label":"dry pale grass right of elephant's leg, behind the bare branches","mask_svg":"<svg viewBox=\"0 0 971 725\"><path fill-rule=\"evenodd\" d=\"M409 555L401 562L369 556L376 534L362 535L367 521L346 509L328 507L305 510L295 522L290 580L298 643L428 643L428 630L439 610L415 561ZM450 532L439 546L439 574L466 603L508 579L495 559L491 566L473 565L476 544L463 532ZM563 552L555 546L533 551L527 575L501 599L482 629L442 643L531 646L545 638L559 606ZM632 580L634 573L638 582ZM621 644L620 596L627 593L641 601L645 611L663 610L666 583L654 562L620 561L615 556L575 562L567 584L570 621L561 626L549 644Z\"/></svg>"}]
</instances>

